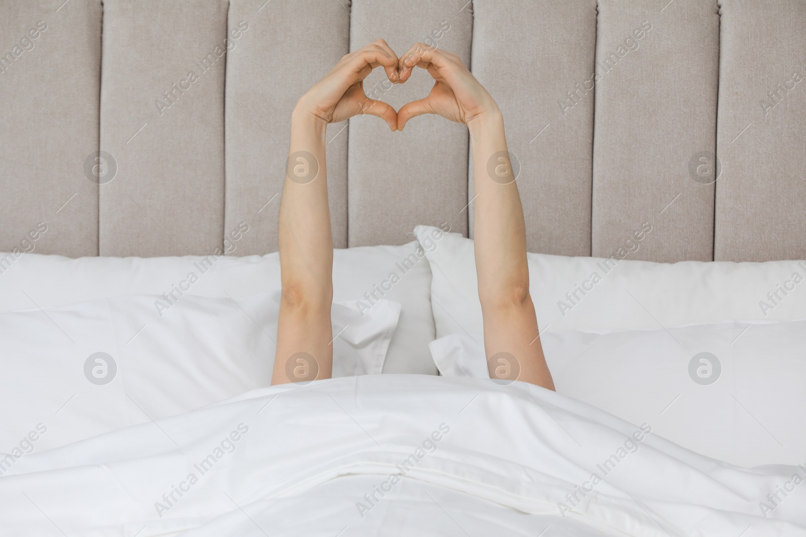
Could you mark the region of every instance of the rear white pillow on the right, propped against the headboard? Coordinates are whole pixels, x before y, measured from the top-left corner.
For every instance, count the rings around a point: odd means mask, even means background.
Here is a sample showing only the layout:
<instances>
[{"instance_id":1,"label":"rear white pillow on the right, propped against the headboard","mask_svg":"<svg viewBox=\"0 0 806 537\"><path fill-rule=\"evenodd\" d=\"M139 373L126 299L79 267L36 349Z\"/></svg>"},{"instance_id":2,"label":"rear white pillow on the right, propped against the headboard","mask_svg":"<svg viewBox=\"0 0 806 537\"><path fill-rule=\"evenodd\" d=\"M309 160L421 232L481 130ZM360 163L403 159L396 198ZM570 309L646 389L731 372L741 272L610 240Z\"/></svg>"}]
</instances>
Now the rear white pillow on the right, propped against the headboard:
<instances>
[{"instance_id":1,"label":"rear white pillow on the right, propped against the headboard","mask_svg":"<svg viewBox=\"0 0 806 537\"><path fill-rule=\"evenodd\" d=\"M482 333L472 239L426 225L418 225L414 232L433 274L436 337ZM651 236L651 231L644 232L642 241ZM641 241L631 244L640 248ZM621 254L618 261L527 254L541 333L806 319L806 262L669 264L631 261L626 249ZM596 283L594 274L599 277Z\"/></svg>"}]
</instances>

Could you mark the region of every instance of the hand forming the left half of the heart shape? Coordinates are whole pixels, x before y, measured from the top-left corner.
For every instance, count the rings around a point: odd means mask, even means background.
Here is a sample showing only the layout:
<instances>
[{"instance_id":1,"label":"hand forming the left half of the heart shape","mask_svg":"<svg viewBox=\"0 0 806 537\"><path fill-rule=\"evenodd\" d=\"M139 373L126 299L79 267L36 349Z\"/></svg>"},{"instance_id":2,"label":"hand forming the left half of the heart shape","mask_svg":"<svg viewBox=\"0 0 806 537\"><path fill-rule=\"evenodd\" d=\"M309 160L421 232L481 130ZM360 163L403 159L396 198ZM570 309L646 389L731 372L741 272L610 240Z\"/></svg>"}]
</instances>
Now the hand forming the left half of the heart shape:
<instances>
[{"instance_id":1,"label":"hand forming the left half of the heart shape","mask_svg":"<svg viewBox=\"0 0 806 537\"><path fill-rule=\"evenodd\" d=\"M397 55L384 39L343 56L321 81L300 98L294 114L310 114L325 123L338 123L355 115L370 114L384 119L390 129L397 130L395 109L383 101L370 99L364 93L364 78L379 65L383 66L393 84L400 80Z\"/></svg>"}]
</instances>

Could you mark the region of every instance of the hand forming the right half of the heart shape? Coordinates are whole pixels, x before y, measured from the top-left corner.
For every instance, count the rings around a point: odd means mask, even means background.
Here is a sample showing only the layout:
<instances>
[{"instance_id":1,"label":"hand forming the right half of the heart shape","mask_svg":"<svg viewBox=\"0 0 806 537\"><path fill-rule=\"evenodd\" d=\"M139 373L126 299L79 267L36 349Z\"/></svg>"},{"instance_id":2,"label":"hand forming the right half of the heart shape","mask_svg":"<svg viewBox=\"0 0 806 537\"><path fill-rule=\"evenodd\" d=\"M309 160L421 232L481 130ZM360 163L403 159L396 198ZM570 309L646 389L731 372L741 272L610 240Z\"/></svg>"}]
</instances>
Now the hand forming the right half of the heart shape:
<instances>
[{"instance_id":1,"label":"hand forming the right half of the heart shape","mask_svg":"<svg viewBox=\"0 0 806 537\"><path fill-rule=\"evenodd\" d=\"M409 119L422 114L438 114L467 126L480 118L501 114L496 101L453 52L414 43L400 57L399 64L399 84L409 80L415 66L427 69L435 82L428 97L411 101L397 112L397 130L403 130Z\"/></svg>"}]
</instances>

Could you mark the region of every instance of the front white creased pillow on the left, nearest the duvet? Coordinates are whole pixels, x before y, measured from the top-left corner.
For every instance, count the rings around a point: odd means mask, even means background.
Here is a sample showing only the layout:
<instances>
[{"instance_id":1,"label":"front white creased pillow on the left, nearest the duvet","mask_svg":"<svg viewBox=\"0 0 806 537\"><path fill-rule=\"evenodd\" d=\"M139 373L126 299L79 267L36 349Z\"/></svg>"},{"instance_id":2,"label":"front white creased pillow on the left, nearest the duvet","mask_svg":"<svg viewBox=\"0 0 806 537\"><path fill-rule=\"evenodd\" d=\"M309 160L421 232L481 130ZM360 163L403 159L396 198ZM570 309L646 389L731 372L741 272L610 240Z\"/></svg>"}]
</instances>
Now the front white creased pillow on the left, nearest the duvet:
<instances>
[{"instance_id":1,"label":"front white creased pillow on the left, nearest the duvet","mask_svg":"<svg viewBox=\"0 0 806 537\"><path fill-rule=\"evenodd\" d=\"M279 300L185 295L158 312L159 296L135 295L0 313L0 447L39 423L41 450L268 386ZM333 376L380 374L400 312L334 303Z\"/></svg>"}]
</instances>

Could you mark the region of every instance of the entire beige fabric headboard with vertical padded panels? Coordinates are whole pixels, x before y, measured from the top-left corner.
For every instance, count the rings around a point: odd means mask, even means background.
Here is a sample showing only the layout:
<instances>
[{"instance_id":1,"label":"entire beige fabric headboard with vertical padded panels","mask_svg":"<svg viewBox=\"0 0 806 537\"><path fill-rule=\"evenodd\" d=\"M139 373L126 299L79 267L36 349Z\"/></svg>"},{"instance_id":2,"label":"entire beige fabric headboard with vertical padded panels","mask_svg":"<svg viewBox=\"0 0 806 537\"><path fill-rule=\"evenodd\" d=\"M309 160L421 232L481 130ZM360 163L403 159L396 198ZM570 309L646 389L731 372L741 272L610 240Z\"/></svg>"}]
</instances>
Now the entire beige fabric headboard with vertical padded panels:
<instances>
[{"instance_id":1,"label":"entire beige fabric headboard with vertical padded panels","mask_svg":"<svg viewBox=\"0 0 806 537\"><path fill-rule=\"evenodd\" d=\"M276 250L293 105L379 37L458 53L496 98L530 251L649 223L631 258L806 258L806 0L4 0L0 250L44 222L37 253L207 254L242 221L233 254ZM463 126L327 137L335 246L472 228Z\"/></svg>"}]
</instances>

